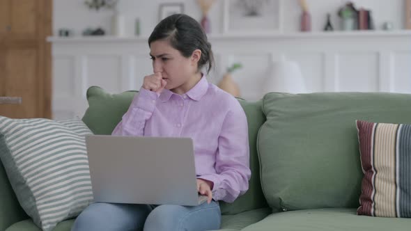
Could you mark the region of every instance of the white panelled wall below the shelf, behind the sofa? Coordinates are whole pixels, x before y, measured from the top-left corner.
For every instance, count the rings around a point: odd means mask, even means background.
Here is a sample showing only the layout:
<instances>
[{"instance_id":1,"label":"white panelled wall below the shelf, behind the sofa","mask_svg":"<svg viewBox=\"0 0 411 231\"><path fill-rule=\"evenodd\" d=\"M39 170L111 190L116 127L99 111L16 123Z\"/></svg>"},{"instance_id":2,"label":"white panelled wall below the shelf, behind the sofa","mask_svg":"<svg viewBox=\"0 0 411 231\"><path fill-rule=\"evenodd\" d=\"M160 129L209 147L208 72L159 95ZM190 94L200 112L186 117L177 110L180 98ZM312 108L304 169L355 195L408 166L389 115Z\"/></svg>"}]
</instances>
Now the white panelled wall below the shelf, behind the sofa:
<instances>
[{"instance_id":1,"label":"white panelled wall below the shelf, behind the sofa","mask_svg":"<svg viewBox=\"0 0 411 231\"><path fill-rule=\"evenodd\" d=\"M308 92L383 91L411 93L411 32L280 33L209 35L218 83L226 67L242 97L260 99L270 63L282 56L300 65ZM49 38L53 55L54 118L82 116L86 90L110 93L139 89L152 74L147 38Z\"/></svg>"}]
</instances>

